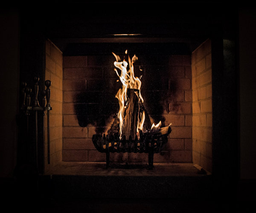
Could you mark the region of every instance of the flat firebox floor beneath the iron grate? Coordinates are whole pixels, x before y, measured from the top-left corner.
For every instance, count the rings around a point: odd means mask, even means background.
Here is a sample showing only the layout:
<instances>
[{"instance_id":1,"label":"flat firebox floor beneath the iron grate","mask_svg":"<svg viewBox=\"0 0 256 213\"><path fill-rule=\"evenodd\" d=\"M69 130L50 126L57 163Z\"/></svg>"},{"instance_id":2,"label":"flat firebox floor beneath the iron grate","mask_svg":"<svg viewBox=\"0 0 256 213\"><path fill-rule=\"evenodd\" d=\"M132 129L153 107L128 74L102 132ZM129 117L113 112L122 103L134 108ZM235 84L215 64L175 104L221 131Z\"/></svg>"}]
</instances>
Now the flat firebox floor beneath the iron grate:
<instances>
[{"instance_id":1,"label":"flat firebox floor beneath the iron grate","mask_svg":"<svg viewBox=\"0 0 256 213\"><path fill-rule=\"evenodd\" d=\"M205 176L191 163L154 163L153 170L147 164L111 163L108 169L105 162L64 162L62 161L45 175L74 176Z\"/></svg>"}]
</instances>

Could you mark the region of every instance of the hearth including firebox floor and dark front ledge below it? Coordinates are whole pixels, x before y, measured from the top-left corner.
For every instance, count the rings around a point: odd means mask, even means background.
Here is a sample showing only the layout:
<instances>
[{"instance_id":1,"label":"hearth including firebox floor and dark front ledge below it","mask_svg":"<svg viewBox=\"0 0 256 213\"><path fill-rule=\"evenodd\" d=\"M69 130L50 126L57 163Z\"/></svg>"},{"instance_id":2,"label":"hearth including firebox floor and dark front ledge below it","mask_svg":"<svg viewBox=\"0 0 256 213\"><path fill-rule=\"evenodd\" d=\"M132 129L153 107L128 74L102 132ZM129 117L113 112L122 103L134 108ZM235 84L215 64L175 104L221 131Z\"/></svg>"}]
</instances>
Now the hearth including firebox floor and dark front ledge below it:
<instances>
[{"instance_id":1,"label":"hearth including firebox floor and dark front ledge below it","mask_svg":"<svg viewBox=\"0 0 256 213\"><path fill-rule=\"evenodd\" d=\"M40 177L42 193L55 198L195 198L212 191L212 176L193 164L61 162Z\"/></svg>"}]
</instances>

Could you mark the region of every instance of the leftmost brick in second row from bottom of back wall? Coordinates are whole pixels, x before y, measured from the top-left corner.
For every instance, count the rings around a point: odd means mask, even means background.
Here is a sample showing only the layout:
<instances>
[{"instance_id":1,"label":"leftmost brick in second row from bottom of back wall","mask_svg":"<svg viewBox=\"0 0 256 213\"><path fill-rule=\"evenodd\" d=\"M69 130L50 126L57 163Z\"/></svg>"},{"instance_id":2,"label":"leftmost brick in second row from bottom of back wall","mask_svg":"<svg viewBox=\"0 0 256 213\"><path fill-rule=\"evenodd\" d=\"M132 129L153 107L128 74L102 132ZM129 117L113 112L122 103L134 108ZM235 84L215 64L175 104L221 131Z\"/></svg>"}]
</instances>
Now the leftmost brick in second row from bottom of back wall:
<instances>
[{"instance_id":1,"label":"leftmost brick in second row from bottom of back wall","mask_svg":"<svg viewBox=\"0 0 256 213\"><path fill-rule=\"evenodd\" d=\"M90 138L63 138L64 150L96 150Z\"/></svg>"}]
</instances>

